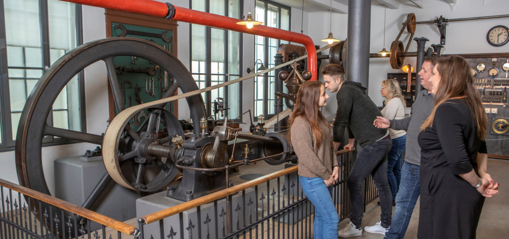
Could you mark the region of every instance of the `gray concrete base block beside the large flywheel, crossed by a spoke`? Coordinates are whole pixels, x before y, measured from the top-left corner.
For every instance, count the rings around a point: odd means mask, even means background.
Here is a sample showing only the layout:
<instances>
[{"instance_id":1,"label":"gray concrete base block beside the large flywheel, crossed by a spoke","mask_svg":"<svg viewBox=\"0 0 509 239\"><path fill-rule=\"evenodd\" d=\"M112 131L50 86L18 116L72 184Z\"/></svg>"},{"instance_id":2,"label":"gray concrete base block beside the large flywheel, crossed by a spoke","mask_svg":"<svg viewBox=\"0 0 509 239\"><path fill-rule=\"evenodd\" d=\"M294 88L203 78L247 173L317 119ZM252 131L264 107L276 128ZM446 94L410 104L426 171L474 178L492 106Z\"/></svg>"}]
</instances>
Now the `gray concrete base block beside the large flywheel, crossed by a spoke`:
<instances>
[{"instance_id":1,"label":"gray concrete base block beside the large flywheel, crossed by a spoke","mask_svg":"<svg viewBox=\"0 0 509 239\"><path fill-rule=\"evenodd\" d=\"M102 157L82 160L81 156L57 159L55 168L55 197L81 206L90 195L101 177L106 173ZM136 217L134 206L140 194L115 183L109 182L90 210L119 221ZM97 223L91 229L100 229Z\"/></svg>"}]
</instances>

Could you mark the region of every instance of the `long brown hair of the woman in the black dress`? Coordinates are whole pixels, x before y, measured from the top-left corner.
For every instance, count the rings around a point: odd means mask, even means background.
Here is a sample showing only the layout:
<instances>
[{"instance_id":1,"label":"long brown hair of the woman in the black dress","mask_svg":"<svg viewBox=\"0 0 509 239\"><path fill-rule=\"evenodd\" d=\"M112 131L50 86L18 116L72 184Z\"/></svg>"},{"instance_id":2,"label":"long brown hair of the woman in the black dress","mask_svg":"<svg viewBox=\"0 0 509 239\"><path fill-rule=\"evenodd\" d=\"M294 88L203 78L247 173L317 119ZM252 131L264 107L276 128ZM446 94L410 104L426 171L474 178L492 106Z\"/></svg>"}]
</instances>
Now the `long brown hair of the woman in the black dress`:
<instances>
[{"instance_id":1,"label":"long brown hair of the woman in the black dress","mask_svg":"<svg viewBox=\"0 0 509 239\"><path fill-rule=\"evenodd\" d=\"M486 124L488 118L480 100L479 94L474 86L470 66L463 57L446 56L437 62L437 70L440 74L437 94L435 96L435 107L431 115L420 127L421 131L431 128L437 108L450 99L460 99L468 104L477 128L477 135L481 140L486 137Z\"/></svg>"}]
</instances>

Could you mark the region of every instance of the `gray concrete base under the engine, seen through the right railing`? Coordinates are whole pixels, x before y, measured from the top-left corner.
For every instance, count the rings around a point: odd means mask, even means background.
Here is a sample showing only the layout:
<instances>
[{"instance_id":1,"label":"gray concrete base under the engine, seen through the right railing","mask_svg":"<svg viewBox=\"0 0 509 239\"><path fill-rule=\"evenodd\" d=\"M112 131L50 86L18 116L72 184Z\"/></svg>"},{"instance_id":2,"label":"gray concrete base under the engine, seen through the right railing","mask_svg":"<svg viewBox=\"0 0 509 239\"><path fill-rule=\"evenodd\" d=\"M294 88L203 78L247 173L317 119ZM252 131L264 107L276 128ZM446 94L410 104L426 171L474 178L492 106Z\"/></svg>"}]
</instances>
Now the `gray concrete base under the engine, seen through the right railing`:
<instances>
[{"instance_id":1,"label":"gray concrete base under the engine, seen through the right railing","mask_svg":"<svg viewBox=\"0 0 509 239\"><path fill-rule=\"evenodd\" d=\"M248 204L249 198L253 202L250 205ZM243 218L245 218L245 224L249 224L249 215L251 216L251 222L254 222L257 213L256 207L254 207L254 201L256 200L254 190L251 188L245 190L244 196L242 192L232 196L232 231L236 231L244 226ZM136 218L144 217L182 203L182 201L166 197L166 191L138 198L136 200ZM237 206L240 207L240 210L236 211ZM223 210L224 216L222 217L221 212ZM226 201L222 199L217 201L217 208L214 207L214 203L208 203L200 206L200 213L197 212L197 208L192 208L183 212L182 218L179 217L179 214L165 218L163 219L164 236L167 236L173 229L173 231L177 232L175 238L181 238L181 232L183 232L184 238L190 238L190 233L192 233L194 238L198 238L197 233L200 230L202 238L207 238L207 224L205 221L208 216L210 219L210 222L208 222L210 238L223 237L223 230L226 230L227 222L225 217L226 211ZM200 215L200 218L197 218L198 215ZM182 225L181 222L183 223ZM191 231L186 229L190 224L192 224ZM143 230L145 238L150 238L151 236L158 238L160 235L160 223L154 222L145 225ZM216 231L218 236L216 236Z\"/></svg>"}]
</instances>

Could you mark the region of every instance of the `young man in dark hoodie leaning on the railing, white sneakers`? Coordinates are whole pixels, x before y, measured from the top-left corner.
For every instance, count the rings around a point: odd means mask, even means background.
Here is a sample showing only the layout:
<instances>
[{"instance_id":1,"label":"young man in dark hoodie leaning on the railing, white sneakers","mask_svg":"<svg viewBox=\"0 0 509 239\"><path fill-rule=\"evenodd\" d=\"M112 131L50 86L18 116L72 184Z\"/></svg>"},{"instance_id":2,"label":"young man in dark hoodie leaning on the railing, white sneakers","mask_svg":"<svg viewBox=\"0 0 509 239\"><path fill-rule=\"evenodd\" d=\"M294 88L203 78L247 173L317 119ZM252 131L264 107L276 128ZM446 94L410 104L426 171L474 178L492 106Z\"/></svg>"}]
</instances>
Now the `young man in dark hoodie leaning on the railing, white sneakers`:
<instances>
[{"instance_id":1,"label":"young man in dark hoodie leaning on the railing, white sneakers","mask_svg":"<svg viewBox=\"0 0 509 239\"><path fill-rule=\"evenodd\" d=\"M373 125L373 121L377 116L382 116L382 113L367 96L366 88L358 82L345 81L344 74L341 66L337 64L330 64L322 69L325 87L330 92L335 92L337 99L332 137L334 147L337 150L340 146L345 128L348 130L349 143L344 148L351 150L355 139L362 147L347 180L352 200L352 217L350 224L340 230L338 236L352 237L362 234L364 196L361 184L370 174L373 175L378 189L382 214L379 223L366 226L364 230L385 234L390 227L392 213L392 193L387 179L387 153L392 143L386 129Z\"/></svg>"}]
</instances>

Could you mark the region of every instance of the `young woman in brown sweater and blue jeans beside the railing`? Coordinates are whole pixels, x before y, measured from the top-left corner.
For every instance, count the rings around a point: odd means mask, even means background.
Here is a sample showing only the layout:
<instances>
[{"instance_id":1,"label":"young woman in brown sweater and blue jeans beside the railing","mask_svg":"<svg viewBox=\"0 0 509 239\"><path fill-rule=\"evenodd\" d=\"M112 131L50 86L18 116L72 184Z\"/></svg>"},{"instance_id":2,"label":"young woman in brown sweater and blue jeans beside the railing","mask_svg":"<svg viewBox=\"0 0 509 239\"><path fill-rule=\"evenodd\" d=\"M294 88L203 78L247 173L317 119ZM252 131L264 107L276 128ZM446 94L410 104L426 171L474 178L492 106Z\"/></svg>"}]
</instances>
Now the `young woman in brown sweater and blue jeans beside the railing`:
<instances>
[{"instance_id":1,"label":"young woman in brown sweater and blue jeans beside the railing","mask_svg":"<svg viewBox=\"0 0 509 239\"><path fill-rule=\"evenodd\" d=\"M320 112L329 96L319 81L307 81L297 93L290 116L288 138L299 158L299 183L315 205L314 237L337 238L337 216L332 201L332 184L338 178L339 166L331 139L330 126Z\"/></svg>"}]
</instances>

